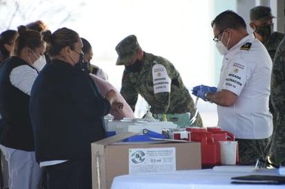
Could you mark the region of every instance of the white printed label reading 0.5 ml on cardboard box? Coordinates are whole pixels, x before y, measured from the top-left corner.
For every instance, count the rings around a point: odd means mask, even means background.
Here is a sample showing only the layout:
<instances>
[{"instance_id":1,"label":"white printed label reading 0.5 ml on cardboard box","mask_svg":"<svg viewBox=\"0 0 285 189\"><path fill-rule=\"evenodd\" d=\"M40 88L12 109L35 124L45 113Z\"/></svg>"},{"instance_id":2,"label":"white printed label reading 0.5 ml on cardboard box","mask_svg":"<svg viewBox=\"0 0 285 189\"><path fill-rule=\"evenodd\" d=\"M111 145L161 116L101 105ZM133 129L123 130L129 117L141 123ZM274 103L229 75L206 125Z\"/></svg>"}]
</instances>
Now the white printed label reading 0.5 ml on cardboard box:
<instances>
[{"instance_id":1,"label":"white printed label reading 0.5 ml on cardboard box","mask_svg":"<svg viewBox=\"0 0 285 189\"><path fill-rule=\"evenodd\" d=\"M176 170L175 148L129 149L129 174Z\"/></svg>"}]
</instances>

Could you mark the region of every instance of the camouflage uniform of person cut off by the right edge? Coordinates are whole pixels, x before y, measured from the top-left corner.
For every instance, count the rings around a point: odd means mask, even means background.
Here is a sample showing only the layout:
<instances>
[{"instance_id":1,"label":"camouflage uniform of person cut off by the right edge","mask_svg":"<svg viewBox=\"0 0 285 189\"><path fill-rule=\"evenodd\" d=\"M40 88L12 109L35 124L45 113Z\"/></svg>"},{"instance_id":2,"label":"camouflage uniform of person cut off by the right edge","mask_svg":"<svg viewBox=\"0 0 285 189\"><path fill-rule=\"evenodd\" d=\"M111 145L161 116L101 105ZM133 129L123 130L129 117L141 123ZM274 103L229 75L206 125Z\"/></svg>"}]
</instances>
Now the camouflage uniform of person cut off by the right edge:
<instances>
[{"instance_id":1,"label":"camouflage uniform of person cut off by the right edge","mask_svg":"<svg viewBox=\"0 0 285 189\"><path fill-rule=\"evenodd\" d=\"M271 74L271 103L276 122L270 147L270 161L285 166L285 38L279 43Z\"/></svg>"}]
</instances>

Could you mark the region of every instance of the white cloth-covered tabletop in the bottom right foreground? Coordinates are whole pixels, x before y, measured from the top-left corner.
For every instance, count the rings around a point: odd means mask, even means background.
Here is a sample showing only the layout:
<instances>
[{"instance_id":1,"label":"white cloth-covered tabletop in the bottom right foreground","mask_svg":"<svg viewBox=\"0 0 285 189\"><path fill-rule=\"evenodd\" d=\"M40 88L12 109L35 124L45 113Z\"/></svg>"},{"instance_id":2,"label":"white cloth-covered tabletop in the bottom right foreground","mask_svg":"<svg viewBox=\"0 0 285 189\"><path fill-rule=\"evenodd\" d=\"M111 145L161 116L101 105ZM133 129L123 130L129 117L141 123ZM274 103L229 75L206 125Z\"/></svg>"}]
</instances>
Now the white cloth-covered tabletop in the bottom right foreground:
<instances>
[{"instance_id":1,"label":"white cloth-covered tabletop in the bottom right foreground","mask_svg":"<svg viewBox=\"0 0 285 189\"><path fill-rule=\"evenodd\" d=\"M277 175L277 170L248 171L243 169L178 170L175 172L122 175L115 177L111 189L235 189L285 188L285 185L235 184L232 177Z\"/></svg>"}]
</instances>

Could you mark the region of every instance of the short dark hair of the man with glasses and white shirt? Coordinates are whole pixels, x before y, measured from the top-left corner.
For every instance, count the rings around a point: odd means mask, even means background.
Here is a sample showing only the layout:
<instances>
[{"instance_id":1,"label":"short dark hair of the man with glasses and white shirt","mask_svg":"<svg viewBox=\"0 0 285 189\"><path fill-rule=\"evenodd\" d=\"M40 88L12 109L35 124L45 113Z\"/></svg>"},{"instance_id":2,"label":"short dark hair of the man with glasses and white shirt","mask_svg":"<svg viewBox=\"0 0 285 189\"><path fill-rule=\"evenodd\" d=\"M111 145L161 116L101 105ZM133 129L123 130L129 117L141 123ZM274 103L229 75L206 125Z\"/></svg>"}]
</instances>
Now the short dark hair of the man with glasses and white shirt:
<instances>
[{"instance_id":1,"label":"short dark hair of the man with glasses and white shirt","mask_svg":"<svg viewBox=\"0 0 285 189\"><path fill-rule=\"evenodd\" d=\"M239 14L232 10L221 12L211 23L211 26L216 26L220 31L226 28L239 30L246 28L246 22Z\"/></svg>"}]
</instances>

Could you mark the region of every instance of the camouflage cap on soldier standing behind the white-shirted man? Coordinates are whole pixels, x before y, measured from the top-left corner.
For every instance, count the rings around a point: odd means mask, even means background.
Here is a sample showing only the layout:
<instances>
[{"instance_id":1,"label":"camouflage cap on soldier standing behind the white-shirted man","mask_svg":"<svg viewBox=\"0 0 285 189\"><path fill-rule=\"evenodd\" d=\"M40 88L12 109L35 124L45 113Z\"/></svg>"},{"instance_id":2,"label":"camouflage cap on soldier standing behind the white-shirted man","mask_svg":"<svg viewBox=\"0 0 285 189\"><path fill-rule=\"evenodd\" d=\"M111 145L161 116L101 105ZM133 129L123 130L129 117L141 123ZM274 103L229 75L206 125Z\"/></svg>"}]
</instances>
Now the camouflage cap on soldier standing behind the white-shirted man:
<instances>
[{"instance_id":1,"label":"camouflage cap on soldier standing behind the white-shirted man","mask_svg":"<svg viewBox=\"0 0 285 189\"><path fill-rule=\"evenodd\" d=\"M270 7L257 6L255 8L250 9L250 21L257 20L265 22L273 18L276 17L273 17Z\"/></svg>"}]
</instances>

